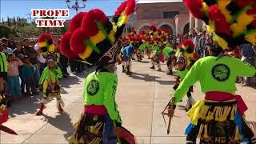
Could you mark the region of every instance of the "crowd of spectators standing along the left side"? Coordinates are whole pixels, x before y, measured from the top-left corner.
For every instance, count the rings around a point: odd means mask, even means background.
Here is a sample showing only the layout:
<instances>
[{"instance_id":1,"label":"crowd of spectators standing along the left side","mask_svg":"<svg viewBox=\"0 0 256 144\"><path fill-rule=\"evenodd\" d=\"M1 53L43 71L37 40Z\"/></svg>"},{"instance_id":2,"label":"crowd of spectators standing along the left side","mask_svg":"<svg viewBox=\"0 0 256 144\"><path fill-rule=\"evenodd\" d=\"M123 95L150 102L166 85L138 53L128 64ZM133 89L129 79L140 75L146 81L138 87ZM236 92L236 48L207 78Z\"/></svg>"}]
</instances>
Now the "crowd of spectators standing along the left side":
<instances>
[{"instance_id":1,"label":"crowd of spectators standing along the left side","mask_svg":"<svg viewBox=\"0 0 256 144\"><path fill-rule=\"evenodd\" d=\"M0 93L4 95L2 102L10 106L14 101L37 95L40 75L46 67L46 60L39 52L38 42L28 38L15 41L10 34L8 38L1 38L0 45ZM70 61L60 54L58 66L61 67L64 78L70 76L67 70L69 63L71 72L82 72L82 62Z\"/></svg>"}]
</instances>

